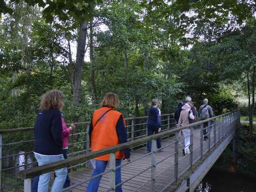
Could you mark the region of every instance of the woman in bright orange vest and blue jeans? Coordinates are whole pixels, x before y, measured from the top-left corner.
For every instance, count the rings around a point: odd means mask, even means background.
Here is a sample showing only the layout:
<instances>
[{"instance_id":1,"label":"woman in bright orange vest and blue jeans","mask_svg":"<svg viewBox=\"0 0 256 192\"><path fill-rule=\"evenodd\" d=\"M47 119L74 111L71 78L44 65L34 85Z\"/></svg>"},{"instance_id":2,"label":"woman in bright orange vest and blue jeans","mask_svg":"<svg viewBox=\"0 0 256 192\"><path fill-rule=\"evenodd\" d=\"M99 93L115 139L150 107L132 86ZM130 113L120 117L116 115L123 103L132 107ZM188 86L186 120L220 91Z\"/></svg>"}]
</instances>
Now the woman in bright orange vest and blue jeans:
<instances>
[{"instance_id":1,"label":"woman in bright orange vest and blue jeans","mask_svg":"<svg viewBox=\"0 0 256 192\"><path fill-rule=\"evenodd\" d=\"M127 142L124 116L114 110L119 107L119 98L115 93L106 93L101 102L101 108L93 112L89 136L91 141L91 151L97 151ZM130 150L116 152L116 166L121 165L122 159L125 163L130 161ZM96 168L92 177L104 173L110 155L102 155L95 158ZM92 179L86 189L86 192L97 192L101 176ZM121 183L121 169L116 169L116 185ZM122 186L116 187L115 191L122 192Z\"/></svg>"}]
</instances>

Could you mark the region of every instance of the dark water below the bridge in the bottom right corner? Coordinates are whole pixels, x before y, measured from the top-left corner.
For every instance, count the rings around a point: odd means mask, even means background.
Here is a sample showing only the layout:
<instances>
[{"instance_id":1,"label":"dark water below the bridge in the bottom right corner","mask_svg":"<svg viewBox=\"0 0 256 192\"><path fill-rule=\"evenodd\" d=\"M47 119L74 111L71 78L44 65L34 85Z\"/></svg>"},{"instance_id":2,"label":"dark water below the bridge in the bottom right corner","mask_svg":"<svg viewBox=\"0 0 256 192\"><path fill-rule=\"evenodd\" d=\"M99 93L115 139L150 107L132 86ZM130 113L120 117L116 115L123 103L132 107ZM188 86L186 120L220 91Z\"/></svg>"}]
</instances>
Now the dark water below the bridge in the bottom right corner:
<instances>
[{"instance_id":1,"label":"dark water below the bridge in the bottom right corner","mask_svg":"<svg viewBox=\"0 0 256 192\"><path fill-rule=\"evenodd\" d=\"M195 192L255 192L256 176L210 170Z\"/></svg>"}]
</instances>

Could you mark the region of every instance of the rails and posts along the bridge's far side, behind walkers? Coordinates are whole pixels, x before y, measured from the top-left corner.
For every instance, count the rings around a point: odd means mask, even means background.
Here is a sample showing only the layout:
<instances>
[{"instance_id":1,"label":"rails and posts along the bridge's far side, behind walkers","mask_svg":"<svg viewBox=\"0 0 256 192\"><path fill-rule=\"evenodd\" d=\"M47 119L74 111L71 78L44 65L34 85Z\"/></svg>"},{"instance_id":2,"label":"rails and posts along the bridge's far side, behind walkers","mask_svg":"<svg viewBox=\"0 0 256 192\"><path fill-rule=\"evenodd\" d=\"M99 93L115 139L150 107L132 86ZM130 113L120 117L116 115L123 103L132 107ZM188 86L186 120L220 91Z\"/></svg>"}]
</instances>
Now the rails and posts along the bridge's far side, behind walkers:
<instances>
[{"instance_id":1,"label":"rails and posts along the bridge's far side, behind walkers","mask_svg":"<svg viewBox=\"0 0 256 192\"><path fill-rule=\"evenodd\" d=\"M168 121L168 126L166 126L166 129L172 129L173 128L173 114L162 114L162 119L164 121ZM145 128L146 123L141 124L141 122L146 122L147 116L143 116L143 117L130 117L130 118L126 118L126 122L127 122L127 126L126 126L126 130L127 130L127 136L128 136L128 141L133 141L136 139L140 139L142 137L145 137L147 135L147 129ZM69 125L69 124L67 124ZM87 141L86 138L88 138L88 128L90 125L90 122L78 122L75 123L75 125L80 125L80 127L77 128L76 133L71 133L71 139L70 139L70 153L68 154L69 157L71 156L77 156L77 155L81 155L81 154L85 154L88 153L90 151L90 142ZM164 125L163 125L164 126ZM19 134L21 132L26 131L26 133L31 134L29 136L29 140L26 138L21 138L18 141L14 141L13 140L9 140L8 135L12 135L12 134ZM32 147L32 142L34 142L35 140L32 137L32 133L33 133L33 127L21 127L18 129L11 129L11 130L0 130L0 137L3 137L2 140L2 145L0 147L0 151L1 149L4 150L4 154L0 155L0 163L3 160L3 165L4 167L0 166L0 186L2 188L2 190L6 190L7 187L11 184L9 183L8 178L15 178L17 179L17 172L18 170L21 169L28 169L28 168L34 168L36 165L35 159L33 158L33 149ZM82 136L82 137L80 137ZM27 143L29 144L29 151L26 152L27 149L24 149L24 151L19 151L19 145ZM131 150L135 150L138 149L142 146L144 146L144 144L140 144L135 146L134 148L132 148ZM78 146L78 147L76 147ZM80 149L82 148L82 150ZM13 150L14 149L14 150ZM17 154L17 150L18 150L18 154ZM77 151L79 150L79 151ZM9 164L7 162L9 162L8 158L16 158L19 159L19 157L22 156L22 160L21 161L13 161L13 159L11 159L11 163L13 164ZM1 158L2 157L2 158ZM29 163L27 163L27 161ZM31 163L33 162L33 163ZM86 162L82 162L81 164L76 164L73 166L69 166L68 169L73 169L76 168L78 166L82 165L83 167L88 168L89 164L88 161ZM3 173L3 171L5 171ZM10 175L9 173L13 172L14 174ZM2 176L2 181L1 181L1 176ZM7 178L7 179L6 179ZM17 183L14 184L16 186L21 185L19 183L20 180L16 180Z\"/></svg>"}]
</instances>

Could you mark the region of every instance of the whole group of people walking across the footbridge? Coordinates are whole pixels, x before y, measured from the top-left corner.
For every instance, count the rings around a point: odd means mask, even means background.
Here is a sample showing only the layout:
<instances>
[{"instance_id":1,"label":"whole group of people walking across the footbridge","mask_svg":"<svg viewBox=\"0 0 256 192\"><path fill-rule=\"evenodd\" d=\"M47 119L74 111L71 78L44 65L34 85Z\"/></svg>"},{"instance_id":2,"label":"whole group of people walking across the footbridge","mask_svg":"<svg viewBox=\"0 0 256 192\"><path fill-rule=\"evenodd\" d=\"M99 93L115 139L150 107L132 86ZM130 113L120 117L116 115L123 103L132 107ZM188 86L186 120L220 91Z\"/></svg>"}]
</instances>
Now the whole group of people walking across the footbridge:
<instances>
[{"instance_id":1,"label":"whole group of people walking across the footbridge","mask_svg":"<svg viewBox=\"0 0 256 192\"><path fill-rule=\"evenodd\" d=\"M51 90L42 96L40 111L37 114L35 132L34 155L38 165L45 165L55 161L67 159L68 137L72 131L76 129L74 124L66 125L62 114L63 101L65 97L59 90ZM119 98L115 93L106 93L101 102L101 108L93 112L89 137L91 151L102 150L107 147L116 146L127 142L127 134L125 130L125 120L121 112L115 109L119 107ZM198 114L201 119L213 117L213 110L208 105L208 100L204 100L204 105L199 109ZM196 108L190 97L185 102L179 102L178 108L175 110L175 120L178 127L189 125L197 119ZM208 127L208 125L204 125ZM158 108L157 100L152 100L151 107L148 110L147 119L147 135L157 134L161 132L161 111ZM180 132L180 138L184 137L184 155L189 154L190 130L183 129ZM208 139L207 131L204 131L204 139ZM157 151L161 149L160 138L157 139ZM151 151L151 141L147 142L147 152ZM116 167L122 163L130 161L130 150L124 149L115 153ZM90 180L87 185L86 192L97 192L101 180L101 176L95 177L105 172L106 166L110 161L110 155L96 157L93 160L94 179ZM115 184L121 183L121 168L115 170ZM50 183L51 173L42 174L33 179L33 192L47 192ZM51 192L62 191L71 185L67 168L55 170L55 180L53 181ZM121 184L116 186L115 191L122 192Z\"/></svg>"}]
</instances>

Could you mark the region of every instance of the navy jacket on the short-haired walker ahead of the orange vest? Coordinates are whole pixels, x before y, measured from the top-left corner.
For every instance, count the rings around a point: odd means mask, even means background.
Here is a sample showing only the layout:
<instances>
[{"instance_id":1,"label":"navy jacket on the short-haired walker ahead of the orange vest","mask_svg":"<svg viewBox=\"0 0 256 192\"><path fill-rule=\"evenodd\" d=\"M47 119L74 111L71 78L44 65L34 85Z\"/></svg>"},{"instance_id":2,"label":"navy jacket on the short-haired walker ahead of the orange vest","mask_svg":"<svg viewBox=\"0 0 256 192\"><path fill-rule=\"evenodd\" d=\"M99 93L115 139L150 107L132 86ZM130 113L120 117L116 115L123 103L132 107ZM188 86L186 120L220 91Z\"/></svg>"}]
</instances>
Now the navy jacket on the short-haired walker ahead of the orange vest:
<instances>
[{"instance_id":1,"label":"navy jacket on the short-haired walker ahead of the orange vest","mask_svg":"<svg viewBox=\"0 0 256 192\"><path fill-rule=\"evenodd\" d=\"M157 107L149 107L149 117L147 118L147 125L158 129L161 127L161 112Z\"/></svg>"}]
</instances>

